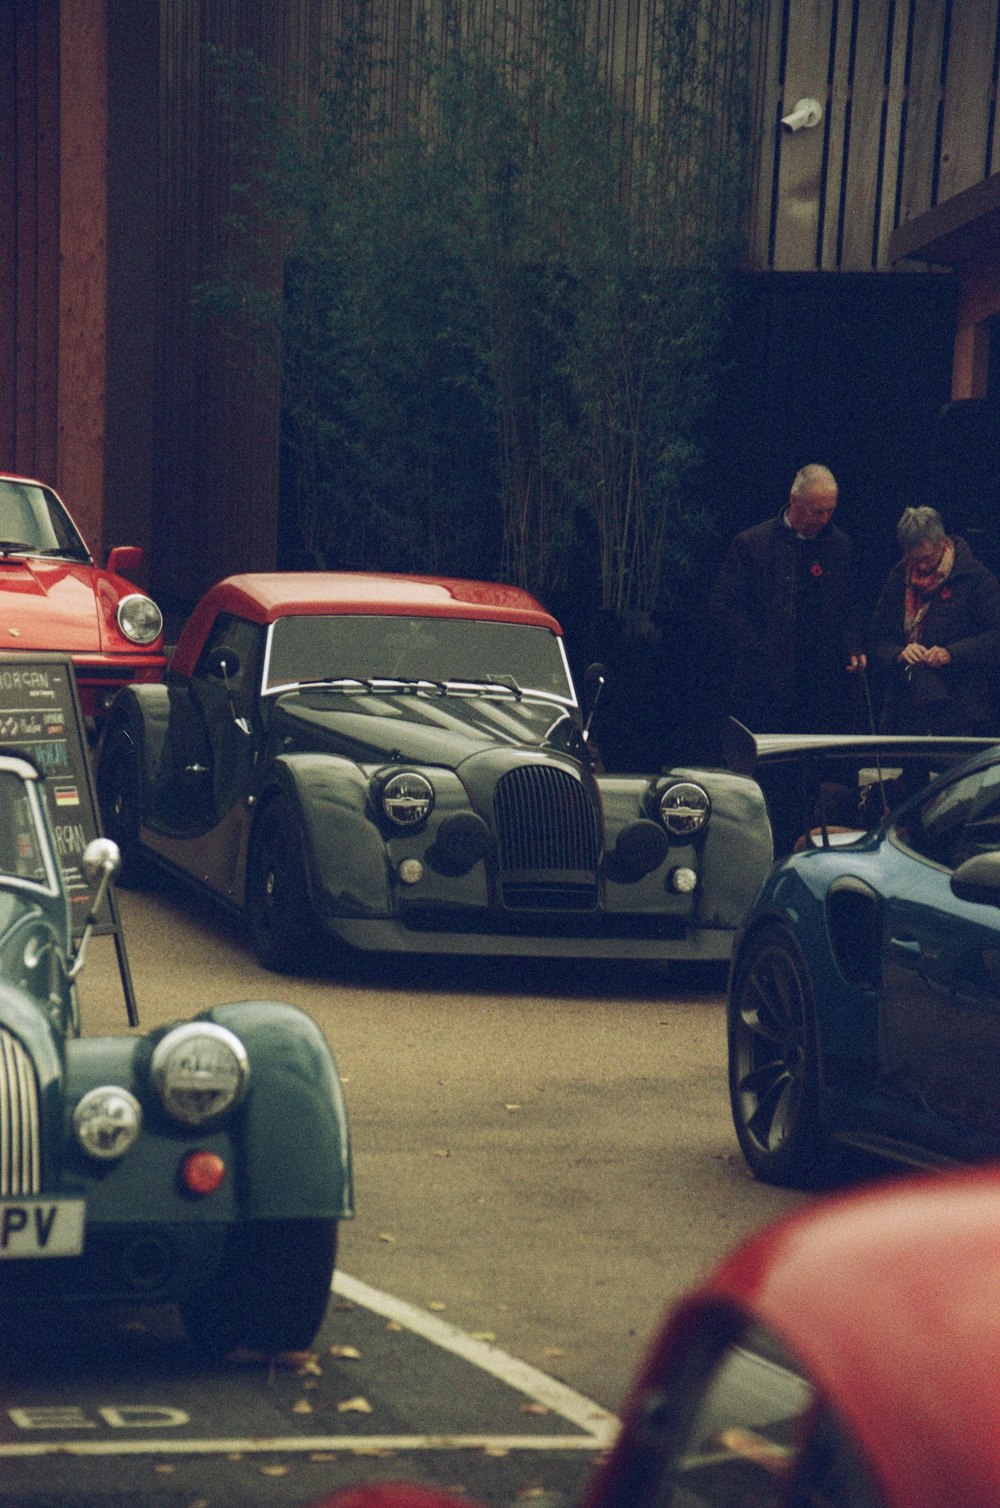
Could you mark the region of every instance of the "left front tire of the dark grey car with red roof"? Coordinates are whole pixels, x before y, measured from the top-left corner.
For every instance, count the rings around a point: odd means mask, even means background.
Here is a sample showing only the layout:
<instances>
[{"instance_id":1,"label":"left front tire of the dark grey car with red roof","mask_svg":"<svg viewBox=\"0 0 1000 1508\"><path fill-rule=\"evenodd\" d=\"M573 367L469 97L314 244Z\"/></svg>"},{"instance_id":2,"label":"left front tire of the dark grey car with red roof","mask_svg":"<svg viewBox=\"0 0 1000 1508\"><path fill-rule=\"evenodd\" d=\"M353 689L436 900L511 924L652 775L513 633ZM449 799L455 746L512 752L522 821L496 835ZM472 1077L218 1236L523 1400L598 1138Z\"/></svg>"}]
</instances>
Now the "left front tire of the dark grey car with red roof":
<instances>
[{"instance_id":1,"label":"left front tire of the dark grey car with red roof","mask_svg":"<svg viewBox=\"0 0 1000 1508\"><path fill-rule=\"evenodd\" d=\"M258 962L278 974L308 970L317 953L303 866L293 804L276 796L258 817L250 838L244 909Z\"/></svg>"}]
</instances>

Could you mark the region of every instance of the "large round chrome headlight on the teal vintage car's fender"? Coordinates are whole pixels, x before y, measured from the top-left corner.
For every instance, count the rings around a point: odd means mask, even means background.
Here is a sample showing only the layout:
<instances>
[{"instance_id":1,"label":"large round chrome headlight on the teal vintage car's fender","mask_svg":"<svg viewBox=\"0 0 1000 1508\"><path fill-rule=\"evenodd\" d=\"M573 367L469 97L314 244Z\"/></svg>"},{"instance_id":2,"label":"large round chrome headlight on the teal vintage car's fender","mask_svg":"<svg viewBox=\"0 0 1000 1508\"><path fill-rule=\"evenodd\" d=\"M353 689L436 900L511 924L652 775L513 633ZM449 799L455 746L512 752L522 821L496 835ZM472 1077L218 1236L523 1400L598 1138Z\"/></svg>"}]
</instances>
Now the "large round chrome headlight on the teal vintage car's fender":
<instances>
[{"instance_id":1,"label":"large round chrome headlight on the teal vintage car's fender","mask_svg":"<svg viewBox=\"0 0 1000 1508\"><path fill-rule=\"evenodd\" d=\"M198 1126L243 1099L250 1063L243 1042L226 1027L190 1021L157 1044L151 1072L167 1114Z\"/></svg>"}]
</instances>

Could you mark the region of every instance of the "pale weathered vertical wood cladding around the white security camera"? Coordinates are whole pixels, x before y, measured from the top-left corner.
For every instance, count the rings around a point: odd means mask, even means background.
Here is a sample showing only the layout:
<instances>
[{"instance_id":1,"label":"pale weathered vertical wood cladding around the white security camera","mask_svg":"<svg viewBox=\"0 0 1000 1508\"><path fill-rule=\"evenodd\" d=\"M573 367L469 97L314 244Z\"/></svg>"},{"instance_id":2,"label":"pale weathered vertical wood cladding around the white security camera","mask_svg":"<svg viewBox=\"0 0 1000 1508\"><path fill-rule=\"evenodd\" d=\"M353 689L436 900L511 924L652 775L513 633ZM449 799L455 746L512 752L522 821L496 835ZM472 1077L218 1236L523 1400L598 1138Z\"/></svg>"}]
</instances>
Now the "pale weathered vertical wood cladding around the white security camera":
<instances>
[{"instance_id":1,"label":"pale weathered vertical wood cladding around the white security camera","mask_svg":"<svg viewBox=\"0 0 1000 1508\"><path fill-rule=\"evenodd\" d=\"M1000 167L997 0L769 0L751 261L884 268L888 237ZM787 131L814 98L824 119Z\"/></svg>"}]
</instances>

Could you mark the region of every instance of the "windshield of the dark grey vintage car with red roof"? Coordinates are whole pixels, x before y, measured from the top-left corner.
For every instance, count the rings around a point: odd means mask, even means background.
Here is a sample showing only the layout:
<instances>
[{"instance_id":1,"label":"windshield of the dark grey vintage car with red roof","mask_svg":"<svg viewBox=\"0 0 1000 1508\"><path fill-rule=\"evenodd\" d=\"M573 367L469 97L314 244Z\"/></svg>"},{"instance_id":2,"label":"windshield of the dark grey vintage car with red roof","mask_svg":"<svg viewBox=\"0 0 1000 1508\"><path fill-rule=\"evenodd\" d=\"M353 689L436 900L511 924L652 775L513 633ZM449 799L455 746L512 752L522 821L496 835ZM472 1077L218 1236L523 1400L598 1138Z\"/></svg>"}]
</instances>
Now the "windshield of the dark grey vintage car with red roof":
<instances>
[{"instance_id":1,"label":"windshield of the dark grey vintage car with red roof","mask_svg":"<svg viewBox=\"0 0 1000 1508\"><path fill-rule=\"evenodd\" d=\"M549 629L471 618L367 615L279 618L264 691L315 680L511 682L575 701Z\"/></svg>"}]
</instances>

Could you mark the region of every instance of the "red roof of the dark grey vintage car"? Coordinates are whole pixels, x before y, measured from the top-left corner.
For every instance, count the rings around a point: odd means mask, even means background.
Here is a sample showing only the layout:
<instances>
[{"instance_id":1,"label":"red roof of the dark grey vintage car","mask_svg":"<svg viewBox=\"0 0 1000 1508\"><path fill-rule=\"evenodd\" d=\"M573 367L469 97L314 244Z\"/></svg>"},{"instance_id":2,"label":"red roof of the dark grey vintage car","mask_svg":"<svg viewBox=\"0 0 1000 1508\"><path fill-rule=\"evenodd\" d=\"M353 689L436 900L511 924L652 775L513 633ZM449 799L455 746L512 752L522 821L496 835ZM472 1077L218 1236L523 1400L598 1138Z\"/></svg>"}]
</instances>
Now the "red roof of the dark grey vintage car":
<instances>
[{"instance_id":1,"label":"red roof of the dark grey vintage car","mask_svg":"<svg viewBox=\"0 0 1000 1508\"><path fill-rule=\"evenodd\" d=\"M502 582L370 572L261 572L226 576L205 593L178 641L172 661L175 671L192 674L205 635L220 612L264 624L287 617L350 612L478 618L563 632L529 593Z\"/></svg>"}]
</instances>

